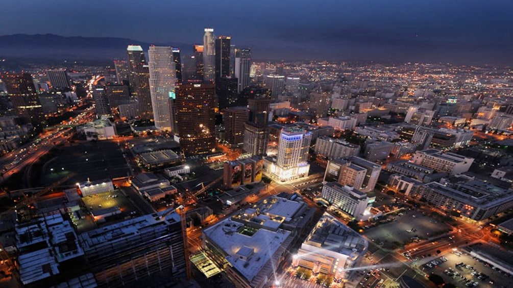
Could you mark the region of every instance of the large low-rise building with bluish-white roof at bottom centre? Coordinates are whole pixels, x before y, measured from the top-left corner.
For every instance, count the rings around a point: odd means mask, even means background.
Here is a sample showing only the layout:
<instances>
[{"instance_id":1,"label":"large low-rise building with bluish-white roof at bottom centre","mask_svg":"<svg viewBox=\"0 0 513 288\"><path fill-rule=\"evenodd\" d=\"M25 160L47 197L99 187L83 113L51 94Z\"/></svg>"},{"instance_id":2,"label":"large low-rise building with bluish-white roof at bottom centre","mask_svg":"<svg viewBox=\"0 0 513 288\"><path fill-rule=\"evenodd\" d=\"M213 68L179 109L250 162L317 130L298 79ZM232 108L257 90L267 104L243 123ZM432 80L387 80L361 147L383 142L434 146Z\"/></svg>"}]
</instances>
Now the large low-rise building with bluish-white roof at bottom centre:
<instances>
[{"instance_id":1,"label":"large low-rise building with bluish-white roof at bottom centre","mask_svg":"<svg viewBox=\"0 0 513 288\"><path fill-rule=\"evenodd\" d=\"M236 287L264 287L313 214L297 194L270 196L204 229L205 254Z\"/></svg>"}]
</instances>

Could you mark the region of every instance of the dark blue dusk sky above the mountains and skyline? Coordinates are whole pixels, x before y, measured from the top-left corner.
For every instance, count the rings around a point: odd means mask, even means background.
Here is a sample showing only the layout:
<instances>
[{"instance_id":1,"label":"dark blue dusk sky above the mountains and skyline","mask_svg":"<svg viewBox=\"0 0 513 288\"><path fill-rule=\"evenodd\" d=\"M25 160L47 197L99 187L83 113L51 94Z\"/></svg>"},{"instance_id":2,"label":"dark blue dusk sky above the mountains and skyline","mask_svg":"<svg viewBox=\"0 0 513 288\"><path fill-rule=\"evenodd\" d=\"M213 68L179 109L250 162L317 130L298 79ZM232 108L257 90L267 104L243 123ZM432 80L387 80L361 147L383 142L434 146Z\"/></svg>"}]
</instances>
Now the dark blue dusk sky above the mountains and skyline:
<instances>
[{"instance_id":1,"label":"dark blue dusk sky above the mountains and skyline","mask_svg":"<svg viewBox=\"0 0 513 288\"><path fill-rule=\"evenodd\" d=\"M5 0L0 15L0 34L201 43L213 27L261 58L513 64L511 0Z\"/></svg>"}]
</instances>

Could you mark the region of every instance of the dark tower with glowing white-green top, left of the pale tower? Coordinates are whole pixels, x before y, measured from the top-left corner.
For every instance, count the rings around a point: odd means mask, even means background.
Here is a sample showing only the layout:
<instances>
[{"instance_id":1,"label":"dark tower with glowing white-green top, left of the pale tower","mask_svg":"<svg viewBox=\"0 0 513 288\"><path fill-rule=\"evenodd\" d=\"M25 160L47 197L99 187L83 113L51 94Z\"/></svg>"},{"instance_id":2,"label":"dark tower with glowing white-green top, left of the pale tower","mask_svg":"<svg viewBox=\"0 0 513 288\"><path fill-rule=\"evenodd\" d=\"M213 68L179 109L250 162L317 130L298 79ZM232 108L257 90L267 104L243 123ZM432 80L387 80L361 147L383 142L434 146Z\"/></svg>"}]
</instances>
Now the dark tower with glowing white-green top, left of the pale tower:
<instances>
[{"instance_id":1,"label":"dark tower with glowing white-green top, left of the pale tower","mask_svg":"<svg viewBox=\"0 0 513 288\"><path fill-rule=\"evenodd\" d=\"M153 118L150 95L150 72L146 63L146 57L141 46L129 45L128 79L130 82L130 94L139 102L139 114L142 119Z\"/></svg>"}]
</instances>

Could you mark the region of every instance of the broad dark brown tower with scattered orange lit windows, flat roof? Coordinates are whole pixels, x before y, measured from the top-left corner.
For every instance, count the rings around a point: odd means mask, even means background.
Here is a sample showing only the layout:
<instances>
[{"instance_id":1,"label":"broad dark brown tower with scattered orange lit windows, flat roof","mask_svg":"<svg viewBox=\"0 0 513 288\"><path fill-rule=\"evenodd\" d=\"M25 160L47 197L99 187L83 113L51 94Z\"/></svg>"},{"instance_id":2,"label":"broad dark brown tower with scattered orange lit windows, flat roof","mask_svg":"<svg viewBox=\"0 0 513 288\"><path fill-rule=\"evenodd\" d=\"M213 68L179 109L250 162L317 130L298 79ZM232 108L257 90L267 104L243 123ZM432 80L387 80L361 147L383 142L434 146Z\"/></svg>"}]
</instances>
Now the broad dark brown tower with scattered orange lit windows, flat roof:
<instances>
[{"instance_id":1,"label":"broad dark brown tower with scattered orange lit windows, flat roof","mask_svg":"<svg viewBox=\"0 0 513 288\"><path fill-rule=\"evenodd\" d=\"M174 107L182 153L195 155L212 152L215 149L214 85L179 85Z\"/></svg>"}]
</instances>

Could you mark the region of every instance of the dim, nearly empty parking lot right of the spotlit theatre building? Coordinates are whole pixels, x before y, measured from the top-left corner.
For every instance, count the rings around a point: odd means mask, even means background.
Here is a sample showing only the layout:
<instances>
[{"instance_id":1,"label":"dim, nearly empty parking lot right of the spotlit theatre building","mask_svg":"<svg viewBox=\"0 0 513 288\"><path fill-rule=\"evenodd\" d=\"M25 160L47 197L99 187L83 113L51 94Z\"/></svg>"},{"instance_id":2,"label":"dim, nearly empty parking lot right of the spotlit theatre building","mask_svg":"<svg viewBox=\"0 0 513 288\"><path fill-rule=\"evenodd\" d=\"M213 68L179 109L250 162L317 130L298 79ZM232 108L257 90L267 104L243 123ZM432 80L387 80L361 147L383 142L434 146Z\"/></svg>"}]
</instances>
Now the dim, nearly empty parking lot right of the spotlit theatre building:
<instances>
[{"instance_id":1,"label":"dim, nearly empty parking lot right of the spotlit theatre building","mask_svg":"<svg viewBox=\"0 0 513 288\"><path fill-rule=\"evenodd\" d=\"M423 215L421 212L406 210L401 216L393 217L396 219L389 223L366 229L365 236L375 243L391 247L394 246L393 243L404 245L411 241L412 237L427 239L450 230L448 225Z\"/></svg>"}]
</instances>

